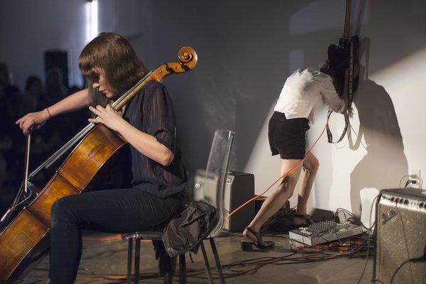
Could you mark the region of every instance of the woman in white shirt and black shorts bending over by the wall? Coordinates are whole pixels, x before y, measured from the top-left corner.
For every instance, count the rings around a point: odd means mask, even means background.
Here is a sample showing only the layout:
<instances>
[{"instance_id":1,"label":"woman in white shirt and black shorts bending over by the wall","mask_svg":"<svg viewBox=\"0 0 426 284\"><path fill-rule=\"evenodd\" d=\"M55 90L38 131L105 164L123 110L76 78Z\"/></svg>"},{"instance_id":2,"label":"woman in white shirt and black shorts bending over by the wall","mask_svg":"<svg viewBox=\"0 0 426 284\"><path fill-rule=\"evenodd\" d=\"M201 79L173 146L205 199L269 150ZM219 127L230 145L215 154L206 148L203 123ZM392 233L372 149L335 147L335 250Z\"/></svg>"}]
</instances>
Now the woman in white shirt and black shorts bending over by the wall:
<instances>
[{"instance_id":1,"label":"woman in white shirt and black shorts bending over by the wall","mask_svg":"<svg viewBox=\"0 0 426 284\"><path fill-rule=\"evenodd\" d=\"M346 111L348 99L341 99L337 92L342 88L335 80L337 70L328 67L328 60L321 70L307 68L296 70L285 81L283 90L269 120L268 138L272 155L280 154L280 175L287 173L299 160L305 157L306 131L310 129L309 122L314 122L315 106L326 103L330 109L343 113ZM331 75L331 76L330 76ZM346 92L344 92L346 94ZM263 241L259 233L261 226L275 214L293 195L296 182L303 167L302 187L297 200L297 214L292 221L293 227L307 226L306 205L310 190L320 166L317 158L309 153L303 163L298 164L283 178L278 190L275 190L263 202L258 214L244 230L242 249L250 249L252 244L260 249L274 246L273 241Z\"/></svg>"}]
</instances>

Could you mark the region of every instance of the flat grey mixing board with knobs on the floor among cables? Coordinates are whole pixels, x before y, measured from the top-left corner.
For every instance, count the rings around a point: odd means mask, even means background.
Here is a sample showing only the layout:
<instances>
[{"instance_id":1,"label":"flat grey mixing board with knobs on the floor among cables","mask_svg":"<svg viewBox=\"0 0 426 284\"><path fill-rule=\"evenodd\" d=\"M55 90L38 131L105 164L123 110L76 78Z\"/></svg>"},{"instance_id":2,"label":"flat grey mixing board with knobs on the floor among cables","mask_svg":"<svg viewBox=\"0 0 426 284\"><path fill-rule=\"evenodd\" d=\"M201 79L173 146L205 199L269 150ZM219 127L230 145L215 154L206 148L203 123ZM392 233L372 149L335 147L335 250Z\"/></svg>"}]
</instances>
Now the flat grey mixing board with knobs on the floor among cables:
<instances>
[{"instance_id":1,"label":"flat grey mixing board with knobs on the floor among cables","mask_svg":"<svg viewBox=\"0 0 426 284\"><path fill-rule=\"evenodd\" d=\"M362 234L362 227L348 222L324 221L289 231L290 239L313 246Z\"/></svg>"}]
</instances>

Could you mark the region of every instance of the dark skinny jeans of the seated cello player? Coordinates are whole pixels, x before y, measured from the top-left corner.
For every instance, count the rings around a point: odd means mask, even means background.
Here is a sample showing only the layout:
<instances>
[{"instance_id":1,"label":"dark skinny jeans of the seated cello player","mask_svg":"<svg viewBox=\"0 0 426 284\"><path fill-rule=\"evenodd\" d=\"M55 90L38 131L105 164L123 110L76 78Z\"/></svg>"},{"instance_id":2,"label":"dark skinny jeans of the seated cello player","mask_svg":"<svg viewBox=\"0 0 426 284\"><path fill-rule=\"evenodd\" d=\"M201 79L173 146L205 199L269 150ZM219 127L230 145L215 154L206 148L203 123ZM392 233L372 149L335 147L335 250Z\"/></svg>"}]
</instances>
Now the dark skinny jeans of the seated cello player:
<instances>
[{"instance_id":1,"label":"dark skinny jeans of the seated cello player","mask_svg":"<svg viewBox=\"0 0 426 284\"><path fill-rule=\"evenodd\" d=\"M82 229L128 233L168 222L182 199L160 199L139 189L99 190L62 197L52 206L50 279L74 283L82 255Z\"/></svg>"}]
</instances>

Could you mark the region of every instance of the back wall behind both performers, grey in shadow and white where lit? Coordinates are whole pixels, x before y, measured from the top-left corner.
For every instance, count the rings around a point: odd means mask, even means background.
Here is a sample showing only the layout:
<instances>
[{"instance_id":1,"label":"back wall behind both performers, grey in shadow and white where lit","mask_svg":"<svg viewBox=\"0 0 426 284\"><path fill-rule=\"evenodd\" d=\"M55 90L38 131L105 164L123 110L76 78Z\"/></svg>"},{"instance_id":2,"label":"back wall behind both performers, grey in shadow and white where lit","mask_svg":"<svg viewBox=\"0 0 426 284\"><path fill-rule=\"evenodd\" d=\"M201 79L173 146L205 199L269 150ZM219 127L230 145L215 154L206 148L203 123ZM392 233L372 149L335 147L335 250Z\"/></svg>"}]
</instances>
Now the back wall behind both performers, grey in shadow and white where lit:
<instances>
[{"instance_id":1,"label":"back wall behind both performers, grey in shadow and white where lit","mask_svg":"<svg viewBox=\"0 0 426 284\"><path fill-rule=\"evenodd\" d=\"M351 118L354 131L337 145L324 136L315 147L321 165L310 205L359 213L363 188L398 187L411 168L426 173L426 2L352 2L362 78ZM2 3L0 61L9 62L17 82L43 74L45 48L73 50L77 62L86 35L84 4ZM187 168L204 167L214 129L234 130L231 168L254 173L256 193L279 175L266 129L285 78L299 67L321 65L327 45L342 35L343 15L342 0L99 0L99 30L128 37L148 67L175 61L182 45L197 50L194 70L165 80ZM317 112L309 143L322 131L325 112ZM330 126L339 136L342 116L334 114Z\"/></svg>"}]
</instances>

